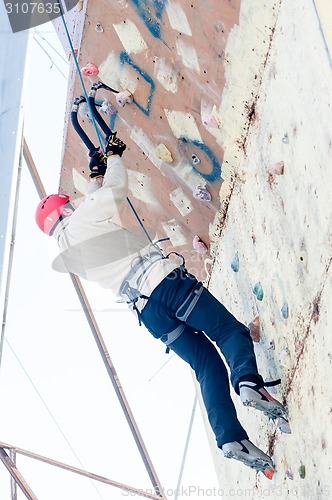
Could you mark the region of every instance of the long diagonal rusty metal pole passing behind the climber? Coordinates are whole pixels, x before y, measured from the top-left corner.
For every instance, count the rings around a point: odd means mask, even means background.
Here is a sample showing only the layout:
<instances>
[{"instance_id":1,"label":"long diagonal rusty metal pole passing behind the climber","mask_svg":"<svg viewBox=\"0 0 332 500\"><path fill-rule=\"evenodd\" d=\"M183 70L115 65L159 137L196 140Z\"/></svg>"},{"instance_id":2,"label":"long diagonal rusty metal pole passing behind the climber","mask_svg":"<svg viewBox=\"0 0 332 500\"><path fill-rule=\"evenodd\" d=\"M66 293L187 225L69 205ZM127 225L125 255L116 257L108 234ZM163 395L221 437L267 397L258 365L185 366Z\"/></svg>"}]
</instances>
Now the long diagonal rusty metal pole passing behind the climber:
<instances>
[{"instance_id":1,"label":"long diagonal rusty metal pole passing behind the climber","mask_svg":"<svg viewBox=\"0 0 332 500\"><path fill-rule=\"evenodd\" d=\"M36 186L36 189L39 193L39 196L41 198L43 198L44 196L46 196L45 189L43 187L42 181L40 179L40 176L38 174L37 168L34 164L34 161L32 159L31 153L29 151L29 148L27 146L25 139L23 139L23 155L24 155L25 161L28 165L28 168L29 168L30 174L32 176L32 179L34 181L34 184ZM76 293L78 295L80 303L82 305L82 308L83 308L84 314L86 316L86 319L89 323L91 332L94 336L94 339L95 339L95 342L96 342L97 347L99 349L99 352L101 354L102 360L104 362L104 365L106 367L108 375L111 379L112 385L114 387L114 390L115 390L116 395L118 397L118 400L120 402L121 408L123 410L123 413L126 417L128 425L129 425L130 430L132 432L132 435L134 437L135 443L138 447L141 458L144 462L147 473L148 473L150 480L153 484L155 492L157 495L159 495L159 497L166 499L166 497L163 494L162 485L158 479L157 473L153 467L151 458L150 458L148 451L145 447L143 438L139 432L138 426L137 426L136 421L134 419L133 413L130 409L129 403L125 397L125 394L124 394L123 388L121 386L119 377L118 377L116 370L114 368L114 365L111 361L106 344L105 344L103 337L101 335L101 332L99 330L97 321L94 317L94 314L92 312L89 301L85 295L81 281L76 275L71 274L71 273L70 273L70 278L72 280L72 283L74 285L74 288L76 290Z\"/></svg>"}]
</instances>

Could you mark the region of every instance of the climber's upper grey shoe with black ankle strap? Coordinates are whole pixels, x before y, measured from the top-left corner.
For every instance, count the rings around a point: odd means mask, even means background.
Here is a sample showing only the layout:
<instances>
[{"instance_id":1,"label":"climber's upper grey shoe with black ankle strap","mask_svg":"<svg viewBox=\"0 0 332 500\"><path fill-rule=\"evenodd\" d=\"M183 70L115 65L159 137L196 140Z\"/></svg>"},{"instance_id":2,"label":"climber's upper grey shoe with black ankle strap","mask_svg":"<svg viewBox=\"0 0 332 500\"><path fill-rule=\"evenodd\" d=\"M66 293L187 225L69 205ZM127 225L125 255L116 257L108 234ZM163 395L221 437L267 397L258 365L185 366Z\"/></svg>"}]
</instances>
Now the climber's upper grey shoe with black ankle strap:
<instances>
[{"instance_id":1,"label":"climber's upper grey shoe with black ankle strap","mask_svg":"<svg viewBox=\"0 0 332 500\"><path fill-rule=\"evenodd\" d=\"M269 418L273 420L279 417L287 416L286 408L271 394L267 392L265 387L280 384L280 380L273 382L247 382L242 381L239 383L240 398L244 406L251 406L260 410Z\"/></svg>"}]
</instances>

